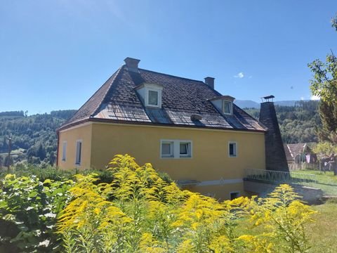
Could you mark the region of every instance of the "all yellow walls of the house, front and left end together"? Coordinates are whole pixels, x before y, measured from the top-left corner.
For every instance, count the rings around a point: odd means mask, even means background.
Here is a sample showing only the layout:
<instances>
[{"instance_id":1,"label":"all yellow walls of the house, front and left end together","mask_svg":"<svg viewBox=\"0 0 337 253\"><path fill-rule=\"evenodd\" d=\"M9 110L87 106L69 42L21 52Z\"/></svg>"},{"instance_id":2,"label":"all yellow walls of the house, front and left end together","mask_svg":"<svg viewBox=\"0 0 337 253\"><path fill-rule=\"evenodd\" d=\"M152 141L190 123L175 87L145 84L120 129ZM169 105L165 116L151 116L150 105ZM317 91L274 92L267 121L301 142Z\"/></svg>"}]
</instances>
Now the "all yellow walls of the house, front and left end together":
<instances>
[{"instance_id":1,"label":"all yellow walls of the house, front and left end together","mask_svg":"<svg viewBox=\"0 0 337 253\"><path fill-rule=\"evenodd\" d=\"M61 169L75 167L77 139L82 140L81 169L104 169L114 155L127 153L138 164L150 162L174 180L204 182L203 186L188 189L221 200L228 199L230 192L245 195L244 169L265 169L263 133L91 122L60 133ZM67 141L66 162L61 161L64 140ZM161 140L192 141L192 158L161 158ZM229 142L237 143L237 157L228 157Z\"/></svg>"}]
</instances>

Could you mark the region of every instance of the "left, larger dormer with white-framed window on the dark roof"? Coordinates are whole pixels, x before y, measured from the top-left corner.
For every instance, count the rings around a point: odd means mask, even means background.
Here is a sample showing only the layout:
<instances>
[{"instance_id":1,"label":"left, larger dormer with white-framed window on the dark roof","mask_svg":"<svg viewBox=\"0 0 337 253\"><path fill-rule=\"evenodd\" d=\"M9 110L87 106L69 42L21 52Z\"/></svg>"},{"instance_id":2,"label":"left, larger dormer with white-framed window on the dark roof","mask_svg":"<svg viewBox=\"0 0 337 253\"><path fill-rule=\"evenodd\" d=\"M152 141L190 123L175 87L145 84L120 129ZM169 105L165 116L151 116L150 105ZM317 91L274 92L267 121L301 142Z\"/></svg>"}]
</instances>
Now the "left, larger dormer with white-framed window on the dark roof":
<instances>
[{"instance_id":1,"label":"left, larger dormer with white-framed window on the dark roof","mask_svg":"<svg viewBox=\"0 0 337 253\"><path fill-rule=\"evenodd\" d=\"M163 86L161 84L140 84L136 88L140 99L145 107L161 108L161 93Z\"/></svg>"}]
</instances>

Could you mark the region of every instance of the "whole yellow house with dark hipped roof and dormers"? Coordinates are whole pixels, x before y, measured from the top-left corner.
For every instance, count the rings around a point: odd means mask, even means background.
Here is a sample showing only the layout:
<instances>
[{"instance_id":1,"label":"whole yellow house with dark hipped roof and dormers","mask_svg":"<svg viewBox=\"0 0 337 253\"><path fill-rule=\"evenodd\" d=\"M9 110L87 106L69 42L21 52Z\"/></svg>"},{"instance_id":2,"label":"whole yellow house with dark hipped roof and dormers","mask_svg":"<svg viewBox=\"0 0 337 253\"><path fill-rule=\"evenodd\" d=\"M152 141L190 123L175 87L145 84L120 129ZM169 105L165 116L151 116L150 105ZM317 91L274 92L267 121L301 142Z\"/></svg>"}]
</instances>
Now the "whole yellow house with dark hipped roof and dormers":
<instances>
[{"instance_id":1,"label":"whole yellow house with dark hipped roof and dormers","mask_svg":"<svg viewBox=\"0 0 337 253\"><path fill-rule=\"evenodd\" d=\"M244 195L244 169L265 169L265 126L205 82L126 58L58 129L60 169L104 169L117 154L152 163L190 190Z\"/></svg>"}]
</instances>

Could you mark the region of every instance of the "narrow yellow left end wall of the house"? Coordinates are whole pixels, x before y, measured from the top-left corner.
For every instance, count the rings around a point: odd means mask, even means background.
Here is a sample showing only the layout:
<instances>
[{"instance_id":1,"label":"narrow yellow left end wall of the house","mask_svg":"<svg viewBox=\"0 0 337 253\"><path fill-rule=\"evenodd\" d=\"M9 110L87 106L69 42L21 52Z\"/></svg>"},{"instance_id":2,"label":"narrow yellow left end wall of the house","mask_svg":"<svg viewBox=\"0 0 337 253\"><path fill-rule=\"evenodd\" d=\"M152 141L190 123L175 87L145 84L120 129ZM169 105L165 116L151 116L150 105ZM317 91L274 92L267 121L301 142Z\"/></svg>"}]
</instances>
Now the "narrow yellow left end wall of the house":
<instances>
[{"instance_id":1,"label":"narrow yellow left end wall of the house","mask_svg":"<svg viewBox=\"0 0 337 253\"><path fill-rule=\"evenodd\" d=\"M60 131L58 146L58 167L60 169L88 169L91 167L91 134L92 124L86 124L73 129ZM75 164L76 143L81 140L81 164ZM63 142L67 141L66 160L62 161Z\"/></svg>"}]
</instances>

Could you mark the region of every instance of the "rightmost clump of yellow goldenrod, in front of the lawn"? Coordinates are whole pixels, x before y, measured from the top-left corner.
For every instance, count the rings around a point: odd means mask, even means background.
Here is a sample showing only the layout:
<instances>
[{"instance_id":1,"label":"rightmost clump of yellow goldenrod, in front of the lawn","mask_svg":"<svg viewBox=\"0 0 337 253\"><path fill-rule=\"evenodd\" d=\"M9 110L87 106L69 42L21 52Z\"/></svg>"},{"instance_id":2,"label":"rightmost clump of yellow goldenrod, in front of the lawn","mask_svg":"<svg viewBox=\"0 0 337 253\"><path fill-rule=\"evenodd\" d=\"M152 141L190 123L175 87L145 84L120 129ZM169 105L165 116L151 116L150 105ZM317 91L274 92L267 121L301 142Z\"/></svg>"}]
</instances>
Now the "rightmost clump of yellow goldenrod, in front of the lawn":
<instances>
[{"instance_id":1,"label":"rightmost clump of yellow goldenrod, in front of the lawn","mask_svg":"<svg viewBox=\"0 0 337 253\"><path fill-rule=\"evenodd\" d=\"M262 226L259 235L242 235L255 252L308 252L310 243L305 224L316 212L298 200L291 186L281 185L270 197L252 202L250 221Z\"/></svg>"}]
</instances>

